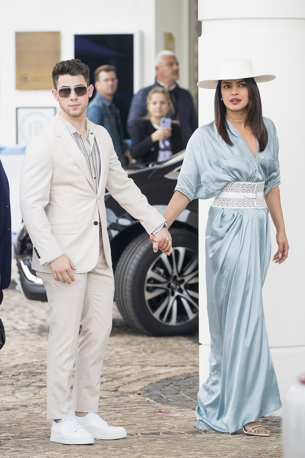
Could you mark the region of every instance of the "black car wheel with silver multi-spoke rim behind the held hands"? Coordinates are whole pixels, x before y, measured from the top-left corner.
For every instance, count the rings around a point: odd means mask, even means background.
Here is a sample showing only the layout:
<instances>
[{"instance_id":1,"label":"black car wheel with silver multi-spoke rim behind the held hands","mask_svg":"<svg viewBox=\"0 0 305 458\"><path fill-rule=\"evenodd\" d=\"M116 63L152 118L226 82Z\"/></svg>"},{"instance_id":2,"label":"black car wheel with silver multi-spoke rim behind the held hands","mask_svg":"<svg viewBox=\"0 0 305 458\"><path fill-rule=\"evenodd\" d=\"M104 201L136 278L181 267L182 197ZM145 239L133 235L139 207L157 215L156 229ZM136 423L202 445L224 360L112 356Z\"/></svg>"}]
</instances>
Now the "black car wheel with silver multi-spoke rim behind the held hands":
<instances>
[{"instance_id":1,"label":"black car wheel with silver multi-spoke rim behind the held hands","mask_svg":"<svg viewBox=\"0 0 305 458\"><path fill-rule=\"evenodd\" d=\"M154 253L147 234L125 248L115 269L115 299L126 322L153 336L198 328L198 236L171 229L173 253Z\"/></svg>"}]
</instances>

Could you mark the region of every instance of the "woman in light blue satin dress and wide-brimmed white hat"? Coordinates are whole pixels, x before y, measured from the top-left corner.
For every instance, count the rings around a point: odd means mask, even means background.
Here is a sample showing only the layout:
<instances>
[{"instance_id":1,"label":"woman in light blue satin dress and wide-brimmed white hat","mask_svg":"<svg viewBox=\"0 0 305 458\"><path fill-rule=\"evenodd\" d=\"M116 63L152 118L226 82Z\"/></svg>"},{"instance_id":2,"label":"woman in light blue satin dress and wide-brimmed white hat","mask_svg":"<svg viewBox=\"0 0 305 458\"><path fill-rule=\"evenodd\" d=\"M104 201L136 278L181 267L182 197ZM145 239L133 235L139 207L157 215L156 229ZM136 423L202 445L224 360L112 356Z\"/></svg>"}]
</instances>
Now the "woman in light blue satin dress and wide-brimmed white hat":
<instances>
[{"instance_id":1,"label":"woman in light blue satin dress and wide-brimmed white hat","mask_svg":"<svg viewBox=\"0 0 305 458\"><path fill-rule=\"evenodd\" d=\"M268 346L261 289L271 258L268 211L278 251L288 255L278 185L278 137L263 118L250 60L222 61L215 121L188 142L174 196L164 213L168 225L192 199L215 197L206 229L210 374L198 393L197 428L269 436L259 417L281 407ZM266 205L267 204L267 205ZM153 236L152 236L153 238Z\"/></svg>"}]
</instances>

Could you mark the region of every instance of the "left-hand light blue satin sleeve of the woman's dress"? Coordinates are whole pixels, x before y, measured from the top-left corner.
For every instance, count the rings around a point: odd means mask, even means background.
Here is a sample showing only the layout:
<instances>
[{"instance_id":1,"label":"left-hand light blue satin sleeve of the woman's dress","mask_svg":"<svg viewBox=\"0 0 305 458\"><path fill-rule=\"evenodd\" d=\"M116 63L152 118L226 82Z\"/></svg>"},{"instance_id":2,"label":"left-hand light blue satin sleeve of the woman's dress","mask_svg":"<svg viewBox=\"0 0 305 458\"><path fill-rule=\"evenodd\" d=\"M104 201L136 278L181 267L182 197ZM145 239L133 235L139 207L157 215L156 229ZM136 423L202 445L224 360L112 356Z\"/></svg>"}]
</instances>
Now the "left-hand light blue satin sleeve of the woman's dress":
<instances>
[{"instance_id":1,"label":"left-hand light blue satin sleeve of the woman's dress","mask_svg":"<svg viewBox=\"0 0 305 458\"><path fill-rule=\"evenodd\" d=\"M201 175L195 159L191 141L188 142L175 191L180 191L191 200L202 198Z\"/></svg>"}]
</instances>

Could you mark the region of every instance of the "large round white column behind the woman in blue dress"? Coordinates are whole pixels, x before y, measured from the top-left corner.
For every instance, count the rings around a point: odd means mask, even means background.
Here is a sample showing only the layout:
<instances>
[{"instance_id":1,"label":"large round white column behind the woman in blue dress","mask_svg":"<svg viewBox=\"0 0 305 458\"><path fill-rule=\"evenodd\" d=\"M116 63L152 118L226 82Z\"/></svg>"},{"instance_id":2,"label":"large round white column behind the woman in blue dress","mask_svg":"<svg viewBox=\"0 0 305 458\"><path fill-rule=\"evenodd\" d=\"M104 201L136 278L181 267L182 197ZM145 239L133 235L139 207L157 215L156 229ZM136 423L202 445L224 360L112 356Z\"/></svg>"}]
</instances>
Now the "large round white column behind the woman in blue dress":
<instances>
[{"instance_id":1,"label":"large round white column behind the woman in blue dress","mask_svg":"<svg viewBox=\"0 0 305 458\"><path fill-rule=\"evenodd\" d=\"M263 114L272 119L279 137L281 199L287 236L288 259L271 263L263 288L267 333L281 396L305 370L305 2L256 0L232 5L226 0L198 0L199 80L217 73L218 61L251 59L257 75L273 74L272 82L259 84ZM214 119L214 91L199 89L199 125ZM204 284L204 230L210 202L200 202L201 284ZM272 254L277 251L271 221ZM208 376L209 333L205 287L200 291L200 376Z\"/></svg>"}]
</instances>

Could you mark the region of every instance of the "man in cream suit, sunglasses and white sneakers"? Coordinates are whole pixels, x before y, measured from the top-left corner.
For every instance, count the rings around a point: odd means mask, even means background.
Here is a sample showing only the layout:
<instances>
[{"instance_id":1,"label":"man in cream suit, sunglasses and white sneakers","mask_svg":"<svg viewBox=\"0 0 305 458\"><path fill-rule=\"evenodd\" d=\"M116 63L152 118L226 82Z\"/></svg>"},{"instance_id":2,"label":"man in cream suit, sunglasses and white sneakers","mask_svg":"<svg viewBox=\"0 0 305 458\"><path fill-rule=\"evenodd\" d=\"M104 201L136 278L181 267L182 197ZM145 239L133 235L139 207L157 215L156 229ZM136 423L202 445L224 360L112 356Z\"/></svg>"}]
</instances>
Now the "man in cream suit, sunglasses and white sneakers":
<instances>
[{"instance_id":1,"label":"man in cream suit, sunglasses and white sneakers","mask_svg":"<svg viewBox=\"0 0 305 458\"><path fill-rule=\"evenodd\" d=\"M108 425L96 413L114 295L105 187L148 234L155 234L154 251L170 254L172 247L163 216L122 169L108 132L86 119L93 93L87 65L77 59L59 62L52 77L60 112L29 140L20 202L33 242L32 267L44 282L50 308L51 441L87 444L126 436L124 428Z\"/></svg>"}]
</instances>

